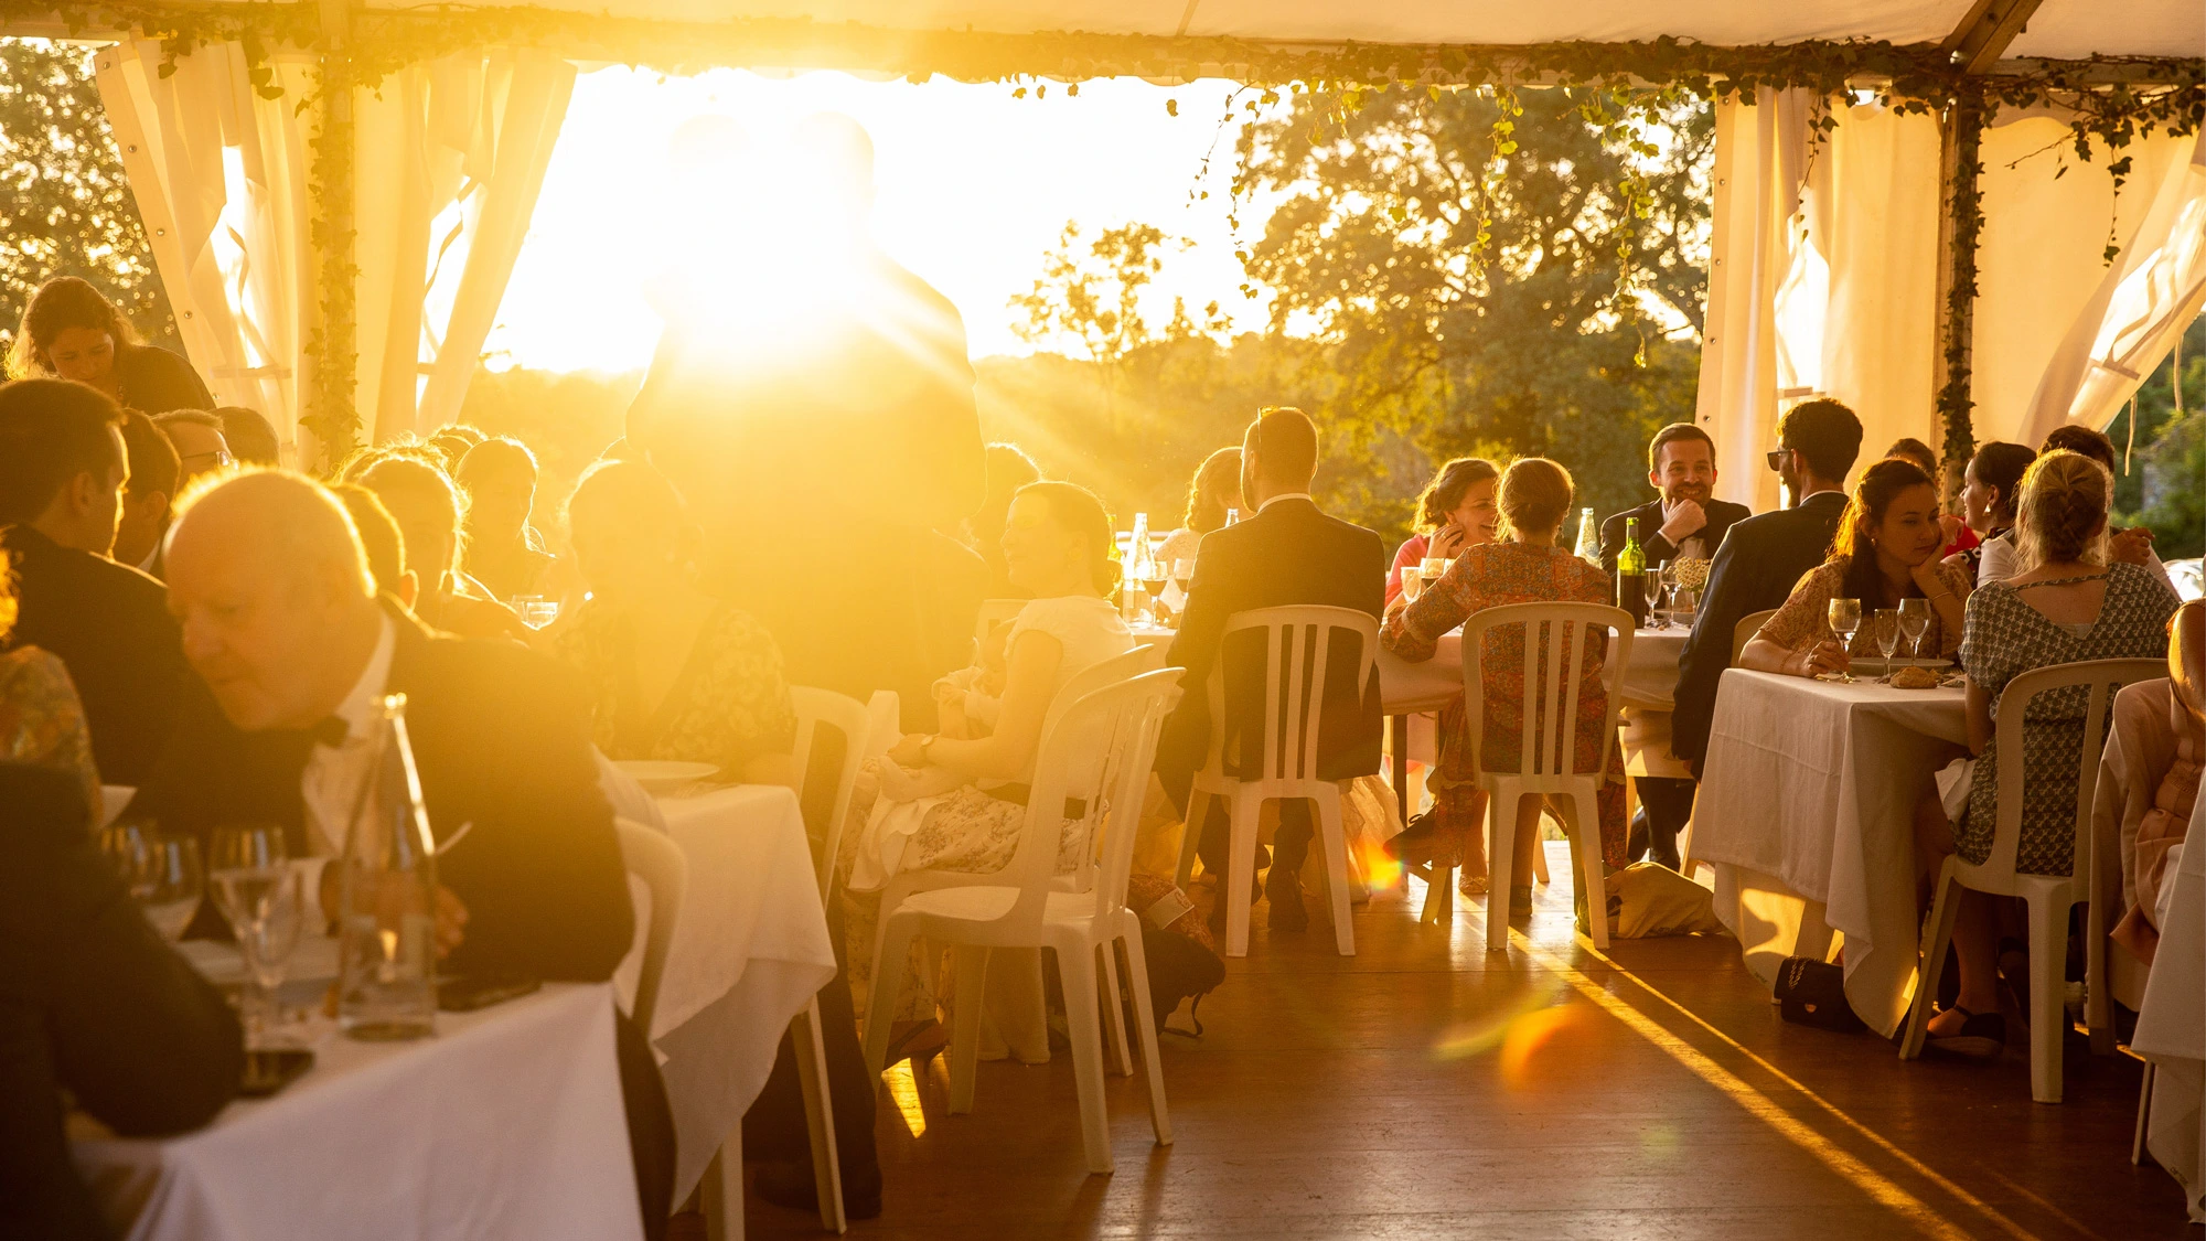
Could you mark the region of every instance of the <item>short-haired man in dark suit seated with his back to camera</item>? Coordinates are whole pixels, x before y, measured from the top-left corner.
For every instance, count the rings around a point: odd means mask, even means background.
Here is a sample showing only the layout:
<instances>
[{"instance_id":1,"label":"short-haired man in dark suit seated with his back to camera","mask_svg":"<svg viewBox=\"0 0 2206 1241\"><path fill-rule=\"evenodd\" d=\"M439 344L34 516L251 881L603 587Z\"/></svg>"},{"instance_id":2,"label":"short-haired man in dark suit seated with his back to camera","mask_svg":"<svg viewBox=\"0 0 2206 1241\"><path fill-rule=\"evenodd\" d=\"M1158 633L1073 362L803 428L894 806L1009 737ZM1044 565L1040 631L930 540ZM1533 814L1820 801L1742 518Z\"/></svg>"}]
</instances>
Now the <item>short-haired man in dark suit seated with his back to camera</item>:
<instances>
[{"instance_id":1,"label":"short-haired man in dark suit seated with his back to camera","mask_svg":"<svg viewBox=\"0 0 2206 1241\"><path fill-rule=\"evenodd\" d=\"M1271 409L1249 424L1242 439L1242 503L1255 517L1204 534L1196 552L1196 576L1187 587L1187 616L1165 658L1185 667L1189 687L1165 720L1156 771L1174 804L1187 808L1193 773L1211 753L1213 731L1222 731L1227 773L1235 757L1264 744L1264 636L1238 634L1224 645L1227 620L1255 607L1324 605L1352 607L1379 616L1385 609L1385 545L1379 534L1317 510L1310 479L1317 477L1317 424L1299 409ZM1335 634L1326 654L1324 707L1317 731L1317 775L1352 779L1379 771L1379 678L1357 685L1361 654L1346 634ZM1229 720L1211 720L1209 680L1222 669ZM1227 874L1224 813L1189 821L1200 830L1202 866ZM1273 837L1273 868L1264 885L1273 930L1302 930L1302 861L1310 848L1310 804L1284 802ZM1224 879L1220 879L1224 881ZM1222 921L1224 899L1211 912Z\"/></svg>"}]
</instances>

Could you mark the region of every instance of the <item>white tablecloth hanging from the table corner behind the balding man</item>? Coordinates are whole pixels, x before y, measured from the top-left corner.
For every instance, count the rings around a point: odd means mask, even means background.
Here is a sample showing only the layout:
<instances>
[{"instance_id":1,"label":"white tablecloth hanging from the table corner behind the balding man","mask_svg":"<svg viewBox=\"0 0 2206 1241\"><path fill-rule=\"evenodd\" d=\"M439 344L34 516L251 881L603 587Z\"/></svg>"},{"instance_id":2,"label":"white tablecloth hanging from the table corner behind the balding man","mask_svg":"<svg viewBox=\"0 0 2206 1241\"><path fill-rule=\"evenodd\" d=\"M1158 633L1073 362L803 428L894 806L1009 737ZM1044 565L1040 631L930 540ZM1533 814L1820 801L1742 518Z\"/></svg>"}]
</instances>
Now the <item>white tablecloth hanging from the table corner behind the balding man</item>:
<instances>
[{"instance_id":1,"label":"white tablecloth hanging from the table corner behind the balding man","mask_svg":"<svg viewBox=\"0 0 2206 1241\"><path fill-rule=\"evenodd\" d=\"M834 947L794 793L748 784L660 810L688 859L651 1020L679 1201L759 1097L790 1018L834 978Z\"/></svg>"}]
</instances>

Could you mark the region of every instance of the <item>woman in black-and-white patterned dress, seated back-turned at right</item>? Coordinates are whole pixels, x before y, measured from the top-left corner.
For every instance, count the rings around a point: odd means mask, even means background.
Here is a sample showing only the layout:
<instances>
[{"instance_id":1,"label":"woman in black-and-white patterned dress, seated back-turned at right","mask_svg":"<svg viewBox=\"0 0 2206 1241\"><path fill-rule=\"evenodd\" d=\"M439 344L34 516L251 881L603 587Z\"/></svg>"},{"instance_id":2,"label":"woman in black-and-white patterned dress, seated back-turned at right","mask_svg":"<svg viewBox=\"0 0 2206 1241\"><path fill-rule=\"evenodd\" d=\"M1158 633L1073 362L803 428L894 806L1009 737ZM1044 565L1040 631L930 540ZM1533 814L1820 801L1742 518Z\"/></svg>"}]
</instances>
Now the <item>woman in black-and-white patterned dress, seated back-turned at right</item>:
<instances>
[{"instance_id":1,"label":"woman in black-and-white patterned dress, seated back-turned at right","mask_svg":"<svg viewBox=\"0 0 2206 1241\"><path fill-rule=\"evenodd\" d=\"M2113 477L2076 453L2045 453L2023 475L2016 548L2023 572L1988 583L1968 601L1961 667L1968 669L1968 749L1961 760L1968 802L1948 815L1939 797L1915 817L1917 855L1935 877L1948 852L1981 863L1992 855L1999 810L1999 753L1992 722L2016 676L2076 660L2164 658L2175 594L2146 570L2107 563L2107 501ZM2069 874L2076 848L2076 766L2082 749L2085 687L2038 696L2025 715L2021 848L2014 868ZM1941 784L1961 779L1941 773ZM1961 994L1930 1018L1928 1047L1992 1058L2005 1044L1999 1014L1999 927L1992 897L1963 892L1952 947Z\"/></svg>"}]
</instances>

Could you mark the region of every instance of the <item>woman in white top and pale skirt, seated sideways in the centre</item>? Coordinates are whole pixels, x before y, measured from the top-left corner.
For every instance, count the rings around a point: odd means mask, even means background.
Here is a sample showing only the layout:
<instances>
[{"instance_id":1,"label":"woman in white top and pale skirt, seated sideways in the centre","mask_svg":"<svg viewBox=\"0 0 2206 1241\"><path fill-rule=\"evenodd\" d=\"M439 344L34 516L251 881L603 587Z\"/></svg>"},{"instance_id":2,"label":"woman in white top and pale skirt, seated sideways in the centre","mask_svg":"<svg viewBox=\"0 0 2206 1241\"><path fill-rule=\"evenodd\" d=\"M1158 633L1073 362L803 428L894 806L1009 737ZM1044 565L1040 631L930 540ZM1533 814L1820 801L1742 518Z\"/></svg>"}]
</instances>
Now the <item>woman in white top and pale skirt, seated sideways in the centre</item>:
<instances>
[{"instance_id":1,"label":"woman in white top and pale skirt, seated sideways in the centre","mask_svg":"<svg viewBox=\"0 0 2206 1241\"><path fill-rule=\"evenodd\" d=\"M1110 515L1094 492L1054 481L1019 488L1004 526L1004 561L1010 581L1035 598L1010 625L995 724L966 720L960 729L966 738L907 733L887 764L867 764L852 799L840 868L847 872L854 978L871 976L878 892L893 874L988 872L1010 863L1050 702L1081 671L1134 649L1134 636L1110 603L1118 576L1110 552ZM971 680L986 685L990 678ZM1059 857L1063 870L1074 861ZM898 1016L933 1018L927 974L920 972L920 991L907 991ZM1002 991L990 985L990 994ZM988 1007L995 1011L995 1000ZM1021 1058L1048 1056L1046 1038L1037 1047L1021 1031L1004 1033Z\"/></svg>"}]
</instances>

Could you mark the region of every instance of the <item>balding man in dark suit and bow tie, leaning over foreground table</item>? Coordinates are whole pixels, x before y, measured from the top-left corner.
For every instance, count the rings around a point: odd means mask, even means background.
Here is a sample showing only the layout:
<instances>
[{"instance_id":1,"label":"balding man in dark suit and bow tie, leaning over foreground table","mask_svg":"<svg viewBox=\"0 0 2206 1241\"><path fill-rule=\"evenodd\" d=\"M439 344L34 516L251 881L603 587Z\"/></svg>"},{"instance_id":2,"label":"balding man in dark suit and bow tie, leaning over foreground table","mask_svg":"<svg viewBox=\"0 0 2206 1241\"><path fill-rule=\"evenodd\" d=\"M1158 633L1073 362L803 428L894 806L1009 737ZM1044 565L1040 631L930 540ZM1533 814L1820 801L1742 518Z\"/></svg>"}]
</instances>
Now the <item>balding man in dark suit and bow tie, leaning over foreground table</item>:
<instances>
[{"instance_id":1,"label":"balding man in dark suit and bow tie, leaning over foreground table","mask_svg":"<svg viewBox=\"0 0 2206 1241\"><path fill-rule=\"evenodd\" d=\"M377 603L364 561L344 508L300 475L240 475L176 517L170 609L203 693L132 810L181 832L280 824L293 857L331 857L377 753L373 704L404 693L430 830L448 846L443 969L611 978L635 923L578 687L523 647L432 634ZM649 1047L627 1018L618 1033L657 1237L673 1131Z\"/></svg>"}]
</instances>

